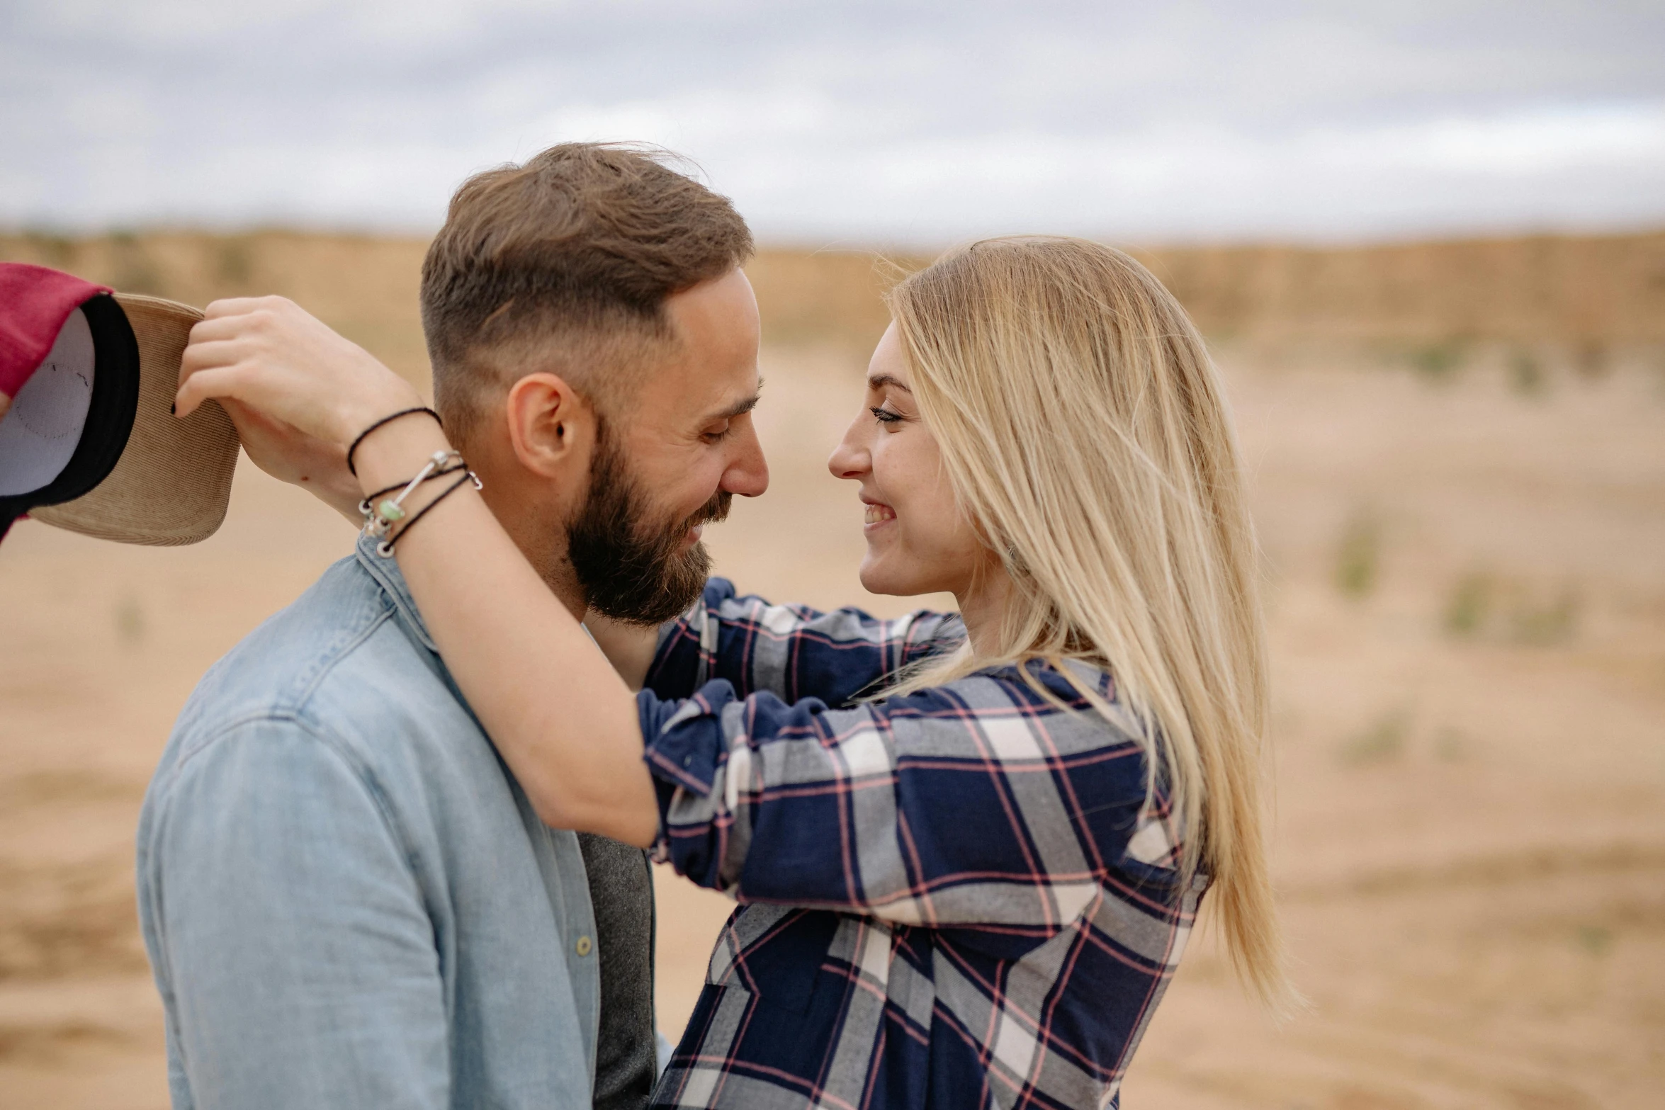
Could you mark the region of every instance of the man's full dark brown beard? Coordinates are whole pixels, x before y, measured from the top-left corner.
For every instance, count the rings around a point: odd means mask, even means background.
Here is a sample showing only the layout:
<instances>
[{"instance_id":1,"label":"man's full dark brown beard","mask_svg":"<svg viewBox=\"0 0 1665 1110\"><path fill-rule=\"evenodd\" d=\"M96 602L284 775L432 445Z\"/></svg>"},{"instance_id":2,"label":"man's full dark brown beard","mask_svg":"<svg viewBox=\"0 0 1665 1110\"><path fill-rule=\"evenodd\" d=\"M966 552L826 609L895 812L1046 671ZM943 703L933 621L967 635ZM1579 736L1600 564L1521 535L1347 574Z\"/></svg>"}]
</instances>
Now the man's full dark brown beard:
<instances>
[{"instance_id":1,"label":"man's full dark brown beard","mask_svg":"<svg viewBox=\"0 0 1665 1110\"><path fill-rule=\"evenodd\" d=\"M628 624L663 624L694 604L711 572L703 543L683 551L688 529L721 521L734 494L719 489L698 513L678 521L651 521L648 499L629 473L624 453L596 426L589 496L566 526L566 557L589 607Z\"/></svg>"}]
</instances>

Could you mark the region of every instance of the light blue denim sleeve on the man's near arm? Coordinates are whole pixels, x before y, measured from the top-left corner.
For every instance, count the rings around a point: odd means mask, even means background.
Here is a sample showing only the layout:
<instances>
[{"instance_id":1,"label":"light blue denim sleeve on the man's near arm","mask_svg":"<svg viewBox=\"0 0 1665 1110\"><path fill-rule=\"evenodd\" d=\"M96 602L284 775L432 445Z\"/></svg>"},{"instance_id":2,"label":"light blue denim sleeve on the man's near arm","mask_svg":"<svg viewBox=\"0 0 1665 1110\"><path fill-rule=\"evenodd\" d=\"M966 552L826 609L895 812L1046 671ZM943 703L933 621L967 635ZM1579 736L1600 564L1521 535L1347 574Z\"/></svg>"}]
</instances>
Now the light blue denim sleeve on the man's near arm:
<instances>
[{"instance_id":1,"label":"light blue denim sleeve on the man's near arm","mask_svg":"<svg viewBox=\"0 0 1665 1110\"><path fill-rule=\"evenodd\" d=\"M140 844L140 902L195 1105L446 1107L423 892L326 737L260 719L186 759Z\"/></svg>"}]
</instances>

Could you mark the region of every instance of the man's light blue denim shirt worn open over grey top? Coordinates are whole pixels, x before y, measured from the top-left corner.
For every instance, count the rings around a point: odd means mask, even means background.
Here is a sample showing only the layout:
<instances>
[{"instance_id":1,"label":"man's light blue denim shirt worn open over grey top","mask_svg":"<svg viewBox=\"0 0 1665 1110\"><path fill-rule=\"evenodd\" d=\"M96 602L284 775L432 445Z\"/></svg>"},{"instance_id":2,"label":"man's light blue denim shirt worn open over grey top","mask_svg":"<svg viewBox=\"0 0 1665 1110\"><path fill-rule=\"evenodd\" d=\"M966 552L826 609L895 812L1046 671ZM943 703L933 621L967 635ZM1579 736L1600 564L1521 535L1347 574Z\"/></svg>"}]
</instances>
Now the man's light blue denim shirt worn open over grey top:
<instances>
[{"instance_id":1,"label":"man's light blue denim shirt worn open over grey top","mask_svg":"<svg viewBox=\"0 0 1665 1110\"><path fill-rule=\"evenodd\" d=\"M206 674L138 827L176 1108L589 1107L578 839L368 543Z\"/></svg>"}]
</instances>

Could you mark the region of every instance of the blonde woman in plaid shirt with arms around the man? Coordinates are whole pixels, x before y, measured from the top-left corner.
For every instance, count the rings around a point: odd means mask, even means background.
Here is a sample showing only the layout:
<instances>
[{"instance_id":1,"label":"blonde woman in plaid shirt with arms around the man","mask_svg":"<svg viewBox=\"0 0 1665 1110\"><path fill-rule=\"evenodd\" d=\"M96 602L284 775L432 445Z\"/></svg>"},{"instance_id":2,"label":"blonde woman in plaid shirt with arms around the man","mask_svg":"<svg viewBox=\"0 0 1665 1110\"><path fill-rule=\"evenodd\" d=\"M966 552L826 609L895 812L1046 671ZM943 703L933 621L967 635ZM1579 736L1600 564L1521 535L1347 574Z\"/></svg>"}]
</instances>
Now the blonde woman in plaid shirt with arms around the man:
<instances>
[{"instance_id":1,"label":"blonde woman in plaid shirt with arms around the man","mask_svg":"<svg viewBox=\"0 0 1665 1110\"><path fill-rule=\"evenodd\" d=\"M962 634L713 579L633 696L466 486L396 544L539 814L741 902L656 1105L1114 1103L1209 887L1244 980L1289 997L1254 543L1194 326L1062 238L949 253L889 306L829 466L867 504L862 584L951 591ZM393 383L330 394L393 411ZM365 438L366 494L448 446L418 423Z\"/></svg>"}]
</instances>

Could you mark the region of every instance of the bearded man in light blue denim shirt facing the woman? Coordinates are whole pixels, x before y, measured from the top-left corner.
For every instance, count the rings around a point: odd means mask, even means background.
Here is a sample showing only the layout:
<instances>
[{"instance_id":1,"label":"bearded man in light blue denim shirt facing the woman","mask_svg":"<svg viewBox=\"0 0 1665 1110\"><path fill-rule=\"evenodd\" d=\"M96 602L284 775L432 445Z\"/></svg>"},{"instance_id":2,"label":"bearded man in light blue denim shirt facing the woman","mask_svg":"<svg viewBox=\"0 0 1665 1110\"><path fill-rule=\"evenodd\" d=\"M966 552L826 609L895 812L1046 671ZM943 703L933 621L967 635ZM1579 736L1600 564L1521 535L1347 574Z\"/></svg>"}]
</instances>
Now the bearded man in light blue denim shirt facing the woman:
<instances>
[{"instance_id":1,"label":"bearded man in light blue denim shirt facing the woman","mask_svg":"<svg viewBox=\"0 0 1665 1110\"><path fill-rule=\"evenodd\" d=\"M674 616L706 577L689 529L768 484L749 253L724 198L629 148L451 201L421 286L436 408L574 614ZM185 369L331 344L285 301L220 303ZM356 518L341 459L285 469L286 431L228 408L256 463ZM147 795L175 1105L638 1107L646 859L538 820L373 543L208 672Z\"/></svg>"}]
</instances>

